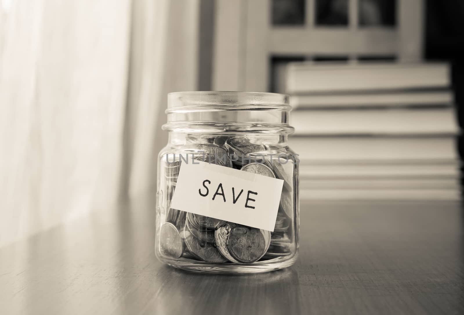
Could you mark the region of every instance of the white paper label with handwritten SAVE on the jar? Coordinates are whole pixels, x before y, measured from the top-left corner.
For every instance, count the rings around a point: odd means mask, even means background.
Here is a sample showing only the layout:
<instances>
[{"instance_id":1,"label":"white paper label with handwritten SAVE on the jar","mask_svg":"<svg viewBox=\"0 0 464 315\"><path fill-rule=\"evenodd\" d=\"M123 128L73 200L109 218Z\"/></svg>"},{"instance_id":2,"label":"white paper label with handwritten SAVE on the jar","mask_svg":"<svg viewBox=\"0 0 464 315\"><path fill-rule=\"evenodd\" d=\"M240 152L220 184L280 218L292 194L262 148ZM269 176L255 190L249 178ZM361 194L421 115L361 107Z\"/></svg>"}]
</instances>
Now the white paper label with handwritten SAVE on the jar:
<instances>
[{"instance_id":1,"label":"white paper label with handwritten SAVE on the jar","mask_svg":"<svg viewBox=\"0 0 464 315\"><path fill-rule=\"evenodd\" d=\"M283 184L207 162L182 163L171 208L274 231Z\"/></svg>"}]
</instances>

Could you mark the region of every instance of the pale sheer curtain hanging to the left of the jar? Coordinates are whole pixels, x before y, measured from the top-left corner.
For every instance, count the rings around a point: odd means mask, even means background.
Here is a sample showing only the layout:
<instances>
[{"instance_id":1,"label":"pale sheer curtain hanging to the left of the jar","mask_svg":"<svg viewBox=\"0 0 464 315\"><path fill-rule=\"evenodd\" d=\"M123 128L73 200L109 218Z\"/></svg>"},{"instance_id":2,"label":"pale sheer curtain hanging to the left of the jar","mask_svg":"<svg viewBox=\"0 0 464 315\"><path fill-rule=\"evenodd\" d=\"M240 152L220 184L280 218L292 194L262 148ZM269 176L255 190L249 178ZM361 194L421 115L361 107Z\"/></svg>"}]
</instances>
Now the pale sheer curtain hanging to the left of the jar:
<instances>
[{"instance_id":1,"label":"pale sheer curtain hanging to the left of the jar","mask_svg":"<svg viewBox=\"0 0 464 315\"><path fill-rule=\"evenodd\" d=\"M0 246L155 189L198 1L0 0Z\"/></svg>"}]
</instances>

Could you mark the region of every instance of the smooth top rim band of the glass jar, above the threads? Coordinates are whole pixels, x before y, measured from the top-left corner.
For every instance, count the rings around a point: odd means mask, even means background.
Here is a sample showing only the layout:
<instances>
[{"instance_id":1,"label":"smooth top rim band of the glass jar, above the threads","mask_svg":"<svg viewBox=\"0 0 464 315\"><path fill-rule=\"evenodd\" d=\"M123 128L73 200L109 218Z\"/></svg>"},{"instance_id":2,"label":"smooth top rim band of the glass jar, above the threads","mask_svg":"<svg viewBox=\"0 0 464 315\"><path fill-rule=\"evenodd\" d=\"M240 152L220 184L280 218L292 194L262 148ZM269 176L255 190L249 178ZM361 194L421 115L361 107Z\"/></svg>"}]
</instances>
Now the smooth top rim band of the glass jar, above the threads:
<instances>
[{"instance_id":1,"label":"smooth top rim band of the glass jar, above the threads","mask_svg":"<svg viewBox=\"0 0 464 315\"><path fill-rule=\"evenodd\" d=\"M184 91L168 94L169 114L178 109L291 109L290 96L268 92Z\"/></svg>"}]
</instances>

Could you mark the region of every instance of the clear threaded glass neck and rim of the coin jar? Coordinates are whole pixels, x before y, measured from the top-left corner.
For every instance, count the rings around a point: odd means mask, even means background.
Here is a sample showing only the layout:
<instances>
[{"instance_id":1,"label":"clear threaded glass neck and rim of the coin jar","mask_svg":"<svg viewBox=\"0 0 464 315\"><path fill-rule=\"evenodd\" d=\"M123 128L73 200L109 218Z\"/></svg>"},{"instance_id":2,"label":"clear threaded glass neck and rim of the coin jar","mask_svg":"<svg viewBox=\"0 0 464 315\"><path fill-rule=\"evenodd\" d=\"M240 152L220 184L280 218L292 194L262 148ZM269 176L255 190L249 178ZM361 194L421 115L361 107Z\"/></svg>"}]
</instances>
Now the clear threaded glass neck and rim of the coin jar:
<instances>
[{"instance_id":1,"label":"clear threaded glass neck and rim of the coin jar","mask_svg":"<svg viewBox=\"0 0 464 315\"><path fill-rule=\"evenodd\" d=\"M286 130L291 106L289 96L262 92L195 91L168 94L165 130L225 128ZM180 127L182 126L182 127ZM253 127L254 126L254 127Z\"/></svg>"}]
</instances>

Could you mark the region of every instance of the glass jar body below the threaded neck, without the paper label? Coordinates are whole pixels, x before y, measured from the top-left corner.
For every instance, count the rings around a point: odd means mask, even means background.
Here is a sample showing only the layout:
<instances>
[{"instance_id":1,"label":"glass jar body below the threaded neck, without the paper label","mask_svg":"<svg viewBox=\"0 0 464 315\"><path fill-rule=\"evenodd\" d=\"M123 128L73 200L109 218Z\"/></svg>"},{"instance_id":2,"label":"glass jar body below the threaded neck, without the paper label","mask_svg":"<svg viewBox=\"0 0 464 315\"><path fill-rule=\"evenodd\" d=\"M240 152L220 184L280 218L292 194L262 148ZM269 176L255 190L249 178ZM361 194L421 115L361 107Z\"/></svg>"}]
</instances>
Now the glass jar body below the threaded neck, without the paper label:
<instances>
[{"instance_id":1,"label":"glass jar body below the threaded neck, without the paper label","mask_svg":"<svg viewBox=\"0 0 464 315\"><path fill-rule=\"evenodd\" d=\"M199 130L195 126L190 126L192 130L185 126L171 129L168 144L158 155L155 240L158 259L180 269L210 273L256 273L294 264L298 255L299 159L287 146L287 135L278 130L247 130L243 125L240 128L229 126L220 130ZM241 147L234 146L236 143L240 143ZM247 151L243 152L243 148L247 148ZM229 158L229 161L225 158ZM265 249L258 253L259 259L251 259L253 261L249 262L240 257L241 252L234 252L229 236L239 231L237 224L196 215L185 209L170 208L180 166L193 161L243 171L261 169L267 172L266 176L283 180L274 231L240 227L240 231L258 233L265 244ZM214 184L211 183L212 187ZM224 194L224 200L236 199L229 191ZM220 207L222 199L216 201ZM252 240L254 243L255 238ZM245 245L250 251L251 247Z\"/></svg>"}]
</instances>

